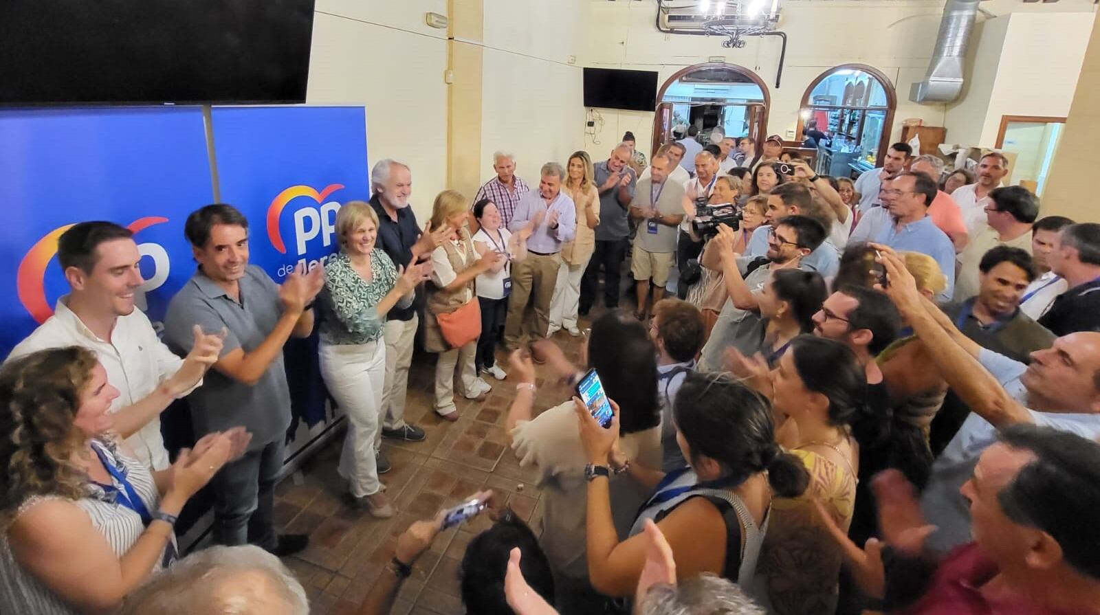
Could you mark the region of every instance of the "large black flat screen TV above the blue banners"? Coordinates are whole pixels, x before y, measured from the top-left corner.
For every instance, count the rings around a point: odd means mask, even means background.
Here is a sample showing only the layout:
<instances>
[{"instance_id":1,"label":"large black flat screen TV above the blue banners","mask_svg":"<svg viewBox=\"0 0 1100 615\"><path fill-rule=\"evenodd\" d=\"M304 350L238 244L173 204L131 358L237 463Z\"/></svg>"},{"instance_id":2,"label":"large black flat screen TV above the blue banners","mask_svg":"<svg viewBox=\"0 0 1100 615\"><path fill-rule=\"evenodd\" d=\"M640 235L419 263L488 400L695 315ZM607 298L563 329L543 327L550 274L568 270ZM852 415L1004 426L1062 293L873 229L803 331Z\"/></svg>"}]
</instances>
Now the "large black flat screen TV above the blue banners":
<instances>
[{"instance_id":1,"label":"large black flat screen TV above the blue banners","mask_svg":"<svg viewBox=\"0 0 1100 615\"><path fill-rule=\"evenodd\" d=\"M0 0L0 105L305 102L315 0Z\"/></svg>"}]
</instances>

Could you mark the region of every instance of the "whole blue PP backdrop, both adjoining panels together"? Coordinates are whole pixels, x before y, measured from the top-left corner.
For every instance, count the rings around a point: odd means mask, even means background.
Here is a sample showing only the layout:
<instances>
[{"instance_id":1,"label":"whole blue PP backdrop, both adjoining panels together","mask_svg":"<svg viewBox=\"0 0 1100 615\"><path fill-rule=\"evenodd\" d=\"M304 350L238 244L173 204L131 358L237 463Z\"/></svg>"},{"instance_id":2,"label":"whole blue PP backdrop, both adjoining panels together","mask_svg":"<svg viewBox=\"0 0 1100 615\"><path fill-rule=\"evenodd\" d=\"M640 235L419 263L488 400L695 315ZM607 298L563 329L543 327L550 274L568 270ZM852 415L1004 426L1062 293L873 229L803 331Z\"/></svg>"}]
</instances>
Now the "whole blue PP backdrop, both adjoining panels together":
<instances>
[{"instance_id":1,"label":"whole blue PP backdrop, both adjoining panels together","mask_svg":"<svg viewBox=\"0 0 1100 615\"><path fill-rule=\"evenodd\" d=\"M215 108L211 168L199 107L0 111L0 358L67 293L57 238L84 220L131 228L138 305L157 322L194 274L184 221L221 200L250 221L252 263L276 279L338 246L336 211L370 197L362 107Z\"/></svg>"}]
</instances>

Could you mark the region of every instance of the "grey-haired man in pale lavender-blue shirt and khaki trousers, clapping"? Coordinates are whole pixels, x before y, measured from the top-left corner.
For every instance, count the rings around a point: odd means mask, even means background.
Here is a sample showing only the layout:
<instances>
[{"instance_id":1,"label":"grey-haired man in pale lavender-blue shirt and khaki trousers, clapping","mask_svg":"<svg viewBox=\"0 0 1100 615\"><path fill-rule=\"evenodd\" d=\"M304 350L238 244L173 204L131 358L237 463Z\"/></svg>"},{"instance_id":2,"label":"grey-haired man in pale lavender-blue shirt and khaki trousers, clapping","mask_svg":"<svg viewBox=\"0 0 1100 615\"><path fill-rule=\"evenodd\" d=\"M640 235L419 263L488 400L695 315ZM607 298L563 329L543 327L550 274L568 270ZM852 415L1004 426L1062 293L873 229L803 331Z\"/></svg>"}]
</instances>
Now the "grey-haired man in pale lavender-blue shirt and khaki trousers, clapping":
<instances>
[{"instance_id":1,"label":"grey-haired man in pale lavender-blue shirt and khaki trousers, clapping","mask_svg":"<svg viewBox=\"0 0 1100 615\"><path fill-rule=\"evenodd\" d=\"M561 189L565 169L558 163L547 163L541 176L539 189L519 199L508 222L508 230L515 233L535 221L535 232L527 239L527 257L512 265L512 279L505 282L510 282L512 294L504 341L512 349L547 337L561 246L576 234L576 207ZM541 363L540 354L532 356Z\"/></svg>"}]
</instances>

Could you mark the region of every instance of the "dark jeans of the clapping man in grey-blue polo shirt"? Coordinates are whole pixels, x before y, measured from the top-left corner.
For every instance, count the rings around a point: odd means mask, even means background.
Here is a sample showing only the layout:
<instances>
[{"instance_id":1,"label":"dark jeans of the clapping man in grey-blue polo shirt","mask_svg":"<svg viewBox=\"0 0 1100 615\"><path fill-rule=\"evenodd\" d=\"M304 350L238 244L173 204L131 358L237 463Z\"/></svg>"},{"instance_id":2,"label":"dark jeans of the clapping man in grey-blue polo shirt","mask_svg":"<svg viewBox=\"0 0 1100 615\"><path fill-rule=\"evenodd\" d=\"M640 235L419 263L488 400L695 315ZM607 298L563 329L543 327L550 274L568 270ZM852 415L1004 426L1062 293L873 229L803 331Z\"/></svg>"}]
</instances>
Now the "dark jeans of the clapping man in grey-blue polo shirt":
<instances>
[{"instance_id":1,"label":"dark jeans of the clapping man in grey-blue polo shirt","mask_svg":"<svg viewBox=\"0 0 1100 615\"><path fill-rule=\"evenodd\" d=\"M215 539L220 545L258 545L272 550L278 539L272 509L283 469L283 437L227 463L210 481L215 494Z\"/></svg>"}]
</instances>

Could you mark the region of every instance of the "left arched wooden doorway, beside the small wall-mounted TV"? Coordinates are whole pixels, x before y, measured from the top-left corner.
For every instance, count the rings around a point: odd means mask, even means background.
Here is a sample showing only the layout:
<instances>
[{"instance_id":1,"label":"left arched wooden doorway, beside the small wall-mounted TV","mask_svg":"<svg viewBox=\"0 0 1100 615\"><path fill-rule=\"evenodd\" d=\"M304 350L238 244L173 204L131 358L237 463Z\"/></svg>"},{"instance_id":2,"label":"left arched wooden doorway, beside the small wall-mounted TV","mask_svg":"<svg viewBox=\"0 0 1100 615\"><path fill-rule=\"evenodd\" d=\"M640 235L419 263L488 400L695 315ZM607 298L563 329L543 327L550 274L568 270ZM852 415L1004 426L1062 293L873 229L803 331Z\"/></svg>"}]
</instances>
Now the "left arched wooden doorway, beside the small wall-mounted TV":
<instances>
[{"instance_id":1,"label":"left arched wooden doorway, beside the small wall-mounted TV","mask_svg":"<svg viewBox=\"0 0 1100 615\"><path fill-rule=\"evenodd\" d=\"M698 127L703 144L704 135L716 127L726 136L749 135L759 143L766 136L770 105L768 86L744 66L708 62L682 68L657 92L653 152L672 141L678 124Z\"/></svg>"}]
</instances>

